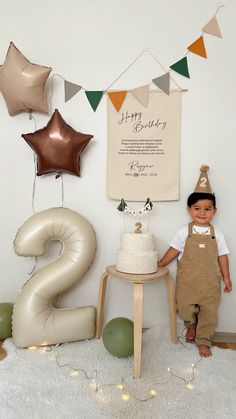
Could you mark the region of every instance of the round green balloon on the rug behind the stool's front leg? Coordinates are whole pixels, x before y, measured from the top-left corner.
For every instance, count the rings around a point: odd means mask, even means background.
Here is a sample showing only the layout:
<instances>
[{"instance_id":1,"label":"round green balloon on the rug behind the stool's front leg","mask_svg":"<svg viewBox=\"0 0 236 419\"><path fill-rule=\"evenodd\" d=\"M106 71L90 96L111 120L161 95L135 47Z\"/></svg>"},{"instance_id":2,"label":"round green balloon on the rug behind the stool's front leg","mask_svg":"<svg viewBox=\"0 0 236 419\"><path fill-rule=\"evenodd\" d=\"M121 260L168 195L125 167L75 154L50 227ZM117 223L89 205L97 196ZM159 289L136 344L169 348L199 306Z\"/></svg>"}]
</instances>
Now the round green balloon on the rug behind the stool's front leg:
<instances>
[{"instance_id":1,"label":"round green balloon on the rug behind the stool's front leg","mask_svg":"<svg viewBox=\"0 0 236 419\"><path fill-rule=\"evenodd\" d=\"M119 358L134 353L134 324L125 317L110 320L103 329L102 340L105 348Z\"/></svg>"}]
</instances>

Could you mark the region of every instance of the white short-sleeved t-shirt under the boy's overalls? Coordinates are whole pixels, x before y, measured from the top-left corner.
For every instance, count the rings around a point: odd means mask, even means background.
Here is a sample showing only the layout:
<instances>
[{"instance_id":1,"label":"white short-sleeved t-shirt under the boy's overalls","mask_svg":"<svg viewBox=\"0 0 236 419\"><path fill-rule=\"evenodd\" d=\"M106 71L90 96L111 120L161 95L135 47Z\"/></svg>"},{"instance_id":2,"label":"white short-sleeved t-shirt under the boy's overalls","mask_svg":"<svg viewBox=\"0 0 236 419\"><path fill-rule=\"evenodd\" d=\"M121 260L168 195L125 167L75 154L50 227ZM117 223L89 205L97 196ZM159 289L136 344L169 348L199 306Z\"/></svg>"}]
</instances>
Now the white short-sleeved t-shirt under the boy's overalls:
<instances>
[{"instance_id":1,"label":"white short-sleeved t-shirt under the boy's overalls","mask_svg":"<svg viewBox=\"0 0 236 419\"><path fill-rule=\"evenodd\" d=\"M215 236L216 236L216 243L218 248L218 256L228 255L229 248L225 241L223 234L214 227ZM210 227L200 227L200 226L193 226L193 234L210 234L211 230ZM188 236L188 224L183 225L180 227L172 240L168 243L170 247L178 250L180 252L178 256L178 260L180 260L183 256L184 246L186 243L186 239Z\"/></svg>"}]
</instances>

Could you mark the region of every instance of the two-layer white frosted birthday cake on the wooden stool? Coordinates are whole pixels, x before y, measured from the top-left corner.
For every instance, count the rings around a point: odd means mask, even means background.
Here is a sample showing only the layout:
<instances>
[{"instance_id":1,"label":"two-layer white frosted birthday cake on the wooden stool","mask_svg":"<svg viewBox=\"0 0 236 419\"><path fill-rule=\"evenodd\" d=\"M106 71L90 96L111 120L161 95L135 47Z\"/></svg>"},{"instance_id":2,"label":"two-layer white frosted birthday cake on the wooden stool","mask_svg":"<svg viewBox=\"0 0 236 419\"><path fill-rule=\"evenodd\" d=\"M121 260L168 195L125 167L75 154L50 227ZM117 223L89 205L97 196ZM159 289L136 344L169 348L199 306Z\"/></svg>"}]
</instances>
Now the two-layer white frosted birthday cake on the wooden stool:
<instances>
[{"instance_id":1,"label":"two-layer white frosted birthday cake on the wooden stool","mask_svg":"<svg viewBox=\"0 0 236 419\"><path fill-rule=\"evenodd\" d=\"M155 237L151 233L121 233L121 246L116 269L131 274L149 274L157 271Z\"/></svg>"}]
</instances>

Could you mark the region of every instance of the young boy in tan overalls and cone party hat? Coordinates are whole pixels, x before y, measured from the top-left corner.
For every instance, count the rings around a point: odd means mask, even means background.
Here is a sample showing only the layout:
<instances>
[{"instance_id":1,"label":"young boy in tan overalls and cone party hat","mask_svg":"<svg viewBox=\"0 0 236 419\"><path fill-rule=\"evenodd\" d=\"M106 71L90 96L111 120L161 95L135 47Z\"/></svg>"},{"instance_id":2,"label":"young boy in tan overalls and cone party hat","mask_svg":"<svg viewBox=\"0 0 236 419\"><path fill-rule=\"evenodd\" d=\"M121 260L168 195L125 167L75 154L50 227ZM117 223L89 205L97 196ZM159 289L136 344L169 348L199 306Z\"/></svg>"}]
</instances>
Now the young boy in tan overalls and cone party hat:
<instances>
[{"instance_id":1,"label":"young boy in tan overalls and cone party hat","mask_svg":"<svg viewBox=\"0 0 236 419\"><path fill-rule=\"evenodd\" d=\"M196 342L202 357L212 355L210 347L218 323L222 277L224 292L232 290L229 250L223 234L211 224L217 209L208 169L208 166L201 166L195 192L188 197L192 222L177 231L169 249L158 262L162 267L178 257L177 310L187 328L186 341Z\"/></svg>"}]
</instances>

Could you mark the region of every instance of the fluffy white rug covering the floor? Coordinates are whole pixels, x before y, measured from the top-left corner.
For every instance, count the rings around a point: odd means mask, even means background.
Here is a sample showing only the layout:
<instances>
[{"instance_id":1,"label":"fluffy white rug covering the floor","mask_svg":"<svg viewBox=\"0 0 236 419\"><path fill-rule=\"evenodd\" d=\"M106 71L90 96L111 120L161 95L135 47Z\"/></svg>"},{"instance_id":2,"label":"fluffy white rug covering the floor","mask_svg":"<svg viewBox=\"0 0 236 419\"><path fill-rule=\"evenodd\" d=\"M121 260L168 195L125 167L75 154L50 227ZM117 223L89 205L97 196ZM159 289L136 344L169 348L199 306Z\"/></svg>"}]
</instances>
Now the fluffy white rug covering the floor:
<instances>
[{"instance_id":1,"label":"fluffy white rug covering the floor","mask_svg":"<svg viewBox=\"0 0 236 419\"><path fill-rule=\"evenodd\" d=\"M172 344L168 325L143 334L140 380L133 379L133 357L113 357L102 340L45 351L17 349L8 339L4 347L1 419L236 418L236 351L214 347L213 357L202 359L193 374L192 364L200 360L195 345ZM72 369L80 374L71 376ZM186 386L191 378L192 388ZM122 379L123 390L115 386ZM156 394L149 399L150 389Z\"/></svg>"}]
</instances>

